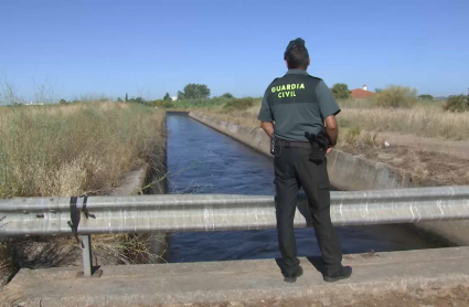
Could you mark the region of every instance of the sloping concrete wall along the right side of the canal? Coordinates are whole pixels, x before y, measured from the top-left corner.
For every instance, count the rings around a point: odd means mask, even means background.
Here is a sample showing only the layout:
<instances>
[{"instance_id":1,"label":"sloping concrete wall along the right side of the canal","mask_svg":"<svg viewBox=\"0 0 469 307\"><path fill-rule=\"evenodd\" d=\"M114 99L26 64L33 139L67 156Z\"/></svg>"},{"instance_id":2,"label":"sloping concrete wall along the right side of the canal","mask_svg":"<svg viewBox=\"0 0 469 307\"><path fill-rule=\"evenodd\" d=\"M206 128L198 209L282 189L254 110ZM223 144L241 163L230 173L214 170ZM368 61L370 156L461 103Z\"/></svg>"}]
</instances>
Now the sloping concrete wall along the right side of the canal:
<instances>
[{"instance_id":1,"label":"sloping concrete wall along the right side of the canal","mask_svg":"<svg viewBox=\"0 0 469 307\"><path fill-rule=\"evenodd\" d=\"M260 128L242 127L193 112L189 116L271 157L269 138ZM340 150L333 150L328 157L328 171L331 184L345 191L440 186L436 181L420 180L411 172ZM454 244L469 245L469 221L422 222L413 225Z\"/></svg>"}]
</instances>

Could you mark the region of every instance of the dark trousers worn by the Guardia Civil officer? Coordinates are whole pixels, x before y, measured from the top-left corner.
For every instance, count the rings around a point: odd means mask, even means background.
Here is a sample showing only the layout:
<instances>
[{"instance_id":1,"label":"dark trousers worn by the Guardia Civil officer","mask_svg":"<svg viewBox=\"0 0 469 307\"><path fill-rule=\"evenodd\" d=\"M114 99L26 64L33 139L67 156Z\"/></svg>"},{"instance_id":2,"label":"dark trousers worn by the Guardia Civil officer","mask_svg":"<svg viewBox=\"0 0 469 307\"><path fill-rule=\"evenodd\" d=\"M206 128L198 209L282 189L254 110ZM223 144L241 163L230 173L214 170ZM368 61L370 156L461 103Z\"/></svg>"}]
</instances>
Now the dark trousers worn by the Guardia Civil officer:
<instances>
[{"instance_id":1,"label":"dark trousers worn by the Guardia Civil officer","mask_svg":"<svg viewBox=\"0 0 469 307\"><path fill-rule=\"evenodd\" d=\"M317 165L308 159L307 148L277 147L275 156L276 215L283 273L294 274L299 265L294 233L296 198L302 188L308 198L316 237L321 250L324 272L342 268L342 250L330 216L330 183L327 161Z\"/></svg>"}]
</instances>

